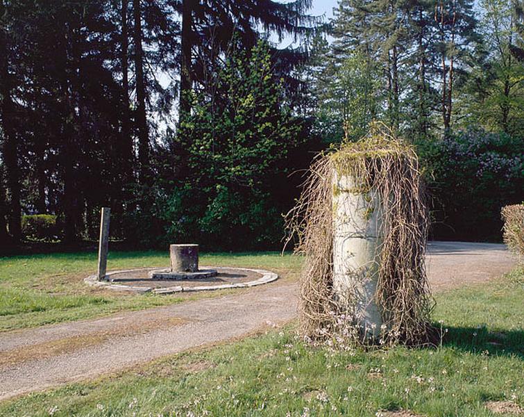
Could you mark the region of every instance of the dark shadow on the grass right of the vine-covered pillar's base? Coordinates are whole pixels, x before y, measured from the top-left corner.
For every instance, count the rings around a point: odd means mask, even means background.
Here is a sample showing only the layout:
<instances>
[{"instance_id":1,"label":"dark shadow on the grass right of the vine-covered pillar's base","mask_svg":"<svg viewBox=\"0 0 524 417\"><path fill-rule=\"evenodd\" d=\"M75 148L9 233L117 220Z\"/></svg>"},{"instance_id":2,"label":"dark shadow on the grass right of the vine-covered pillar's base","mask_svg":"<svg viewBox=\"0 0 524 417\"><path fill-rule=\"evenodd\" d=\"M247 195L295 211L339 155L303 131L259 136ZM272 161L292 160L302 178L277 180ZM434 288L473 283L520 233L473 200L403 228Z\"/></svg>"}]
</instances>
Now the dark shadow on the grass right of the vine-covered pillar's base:
<instances>
[{"instance_id":1,"label":"dark shadow on the grass right of the vine-covered pillar's base","mask_svg":"<svg viewBox=\"0 0 524 417\"><path fill-rule=\"evenodd\" d=\"M462 352L516 356L524 360L524 329L489 332L487 327L446 327L442 345Z\"/></svg>"}]
</instances>

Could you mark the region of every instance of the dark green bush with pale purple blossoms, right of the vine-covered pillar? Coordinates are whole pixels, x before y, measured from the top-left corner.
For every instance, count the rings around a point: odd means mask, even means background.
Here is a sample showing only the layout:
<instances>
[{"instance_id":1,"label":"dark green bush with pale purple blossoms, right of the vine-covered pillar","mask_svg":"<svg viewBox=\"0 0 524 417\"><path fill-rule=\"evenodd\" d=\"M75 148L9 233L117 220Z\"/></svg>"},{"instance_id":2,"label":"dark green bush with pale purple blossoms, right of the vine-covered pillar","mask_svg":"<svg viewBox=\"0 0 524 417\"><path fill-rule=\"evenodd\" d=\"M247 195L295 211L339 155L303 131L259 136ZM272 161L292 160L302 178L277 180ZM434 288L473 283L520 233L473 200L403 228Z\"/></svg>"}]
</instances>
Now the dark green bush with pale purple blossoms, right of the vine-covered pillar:
<instances>
[{"instance_id":1,"label":"dark green bush with pale purple blossoms, right of the vine-covered pillar","mask_svg":"<svg viewBox=\"0 0 524 417\"><path fill-rule=\"evenodd\" d=\"M470 129L422 143L419 154L432 195L432 238L500 241L500 208L522 200L522 138Z\"/></svg>"}]
</instances>

